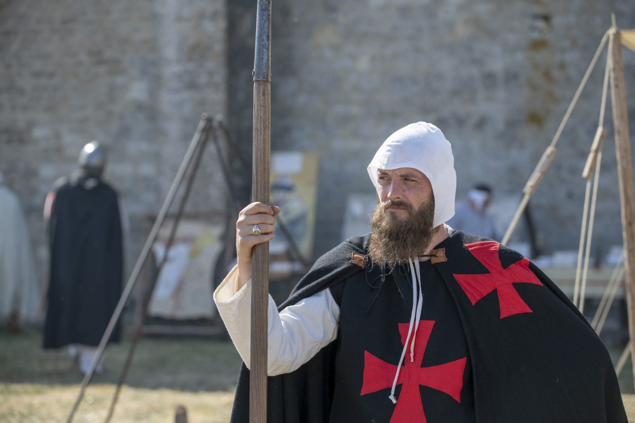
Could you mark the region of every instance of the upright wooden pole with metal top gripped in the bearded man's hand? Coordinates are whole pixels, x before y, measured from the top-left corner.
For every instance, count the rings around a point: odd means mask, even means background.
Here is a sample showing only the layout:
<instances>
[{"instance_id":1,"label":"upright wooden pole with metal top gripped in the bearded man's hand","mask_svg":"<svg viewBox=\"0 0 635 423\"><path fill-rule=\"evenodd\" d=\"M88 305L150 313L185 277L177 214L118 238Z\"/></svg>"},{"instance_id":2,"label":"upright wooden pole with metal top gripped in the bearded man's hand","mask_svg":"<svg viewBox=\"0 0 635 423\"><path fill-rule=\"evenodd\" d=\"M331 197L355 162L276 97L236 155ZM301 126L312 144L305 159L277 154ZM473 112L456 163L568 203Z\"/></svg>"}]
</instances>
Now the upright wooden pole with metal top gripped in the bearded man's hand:
<instances>
[{"instance_id":1,"label":"upright wooden pole with metal top gripped in the bearded man's hand","mask_svg":"<svg viewBox=\"0 0 635 423\"><path fill-rule=\"evenodd\" d=\"M271 0L258 0L253 67L253 172L251 201L269 204L271 127ZM251 259L251 423L267 421L267 303L269 244L255 245Z\"/></svg>"}]
</instances>

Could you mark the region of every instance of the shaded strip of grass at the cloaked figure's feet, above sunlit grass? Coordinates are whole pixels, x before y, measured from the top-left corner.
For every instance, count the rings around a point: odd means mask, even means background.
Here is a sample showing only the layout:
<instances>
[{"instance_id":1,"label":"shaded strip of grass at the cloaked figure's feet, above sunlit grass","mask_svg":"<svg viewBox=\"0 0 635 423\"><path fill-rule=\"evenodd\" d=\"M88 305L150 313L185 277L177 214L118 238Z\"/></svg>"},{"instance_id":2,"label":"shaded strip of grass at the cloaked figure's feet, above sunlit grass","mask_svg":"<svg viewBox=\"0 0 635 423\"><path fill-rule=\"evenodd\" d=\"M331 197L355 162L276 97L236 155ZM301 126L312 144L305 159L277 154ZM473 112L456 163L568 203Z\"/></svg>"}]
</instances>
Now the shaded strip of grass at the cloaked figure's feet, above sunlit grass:
<instances>
[{"instance_id":1,"label":"shaded strip of grass at the cloaked figure's feet, above sunlit grass","mask_svg":"<svg viewBox=\"0 0 635 423\"><path fill-rule=\"evenodd\" d=\"M41 334L0 331L0 383L81 384L83 375L65 348L41 348ZM130 340L106 349L102 375L91 384L116 384ZM231 342L192 338L145 338L139 342L126 385L179 391L235 389L241 358Z\"/></svg>"}]
</instances>

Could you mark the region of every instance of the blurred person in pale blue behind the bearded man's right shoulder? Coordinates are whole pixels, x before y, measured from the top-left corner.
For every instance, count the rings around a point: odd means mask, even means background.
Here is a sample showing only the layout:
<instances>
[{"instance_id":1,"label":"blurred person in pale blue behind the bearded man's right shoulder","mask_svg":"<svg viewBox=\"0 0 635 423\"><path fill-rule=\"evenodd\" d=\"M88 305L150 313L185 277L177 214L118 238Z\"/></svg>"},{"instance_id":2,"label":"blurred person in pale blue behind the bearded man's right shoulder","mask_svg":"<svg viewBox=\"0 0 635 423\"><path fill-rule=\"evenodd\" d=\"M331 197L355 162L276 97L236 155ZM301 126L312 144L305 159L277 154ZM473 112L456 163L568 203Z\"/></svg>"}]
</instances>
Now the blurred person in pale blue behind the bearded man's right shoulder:
<instances>
[{"instance_id":1,"label":"blurred person in pale blue behind the bearded man's right shoulder","mask_svg":"<svg viewBox=\"0 0 635 423\"><path fill-rule=\"evenodd\" d=\"M499 241L498 233L495 229L494 219L487 212L487 207L491 202L491 188L485 184L474 185L467 192L467 201L457 206L453 218L448 221L451 228L480 235Z\"/></svg>"}]
</instances>

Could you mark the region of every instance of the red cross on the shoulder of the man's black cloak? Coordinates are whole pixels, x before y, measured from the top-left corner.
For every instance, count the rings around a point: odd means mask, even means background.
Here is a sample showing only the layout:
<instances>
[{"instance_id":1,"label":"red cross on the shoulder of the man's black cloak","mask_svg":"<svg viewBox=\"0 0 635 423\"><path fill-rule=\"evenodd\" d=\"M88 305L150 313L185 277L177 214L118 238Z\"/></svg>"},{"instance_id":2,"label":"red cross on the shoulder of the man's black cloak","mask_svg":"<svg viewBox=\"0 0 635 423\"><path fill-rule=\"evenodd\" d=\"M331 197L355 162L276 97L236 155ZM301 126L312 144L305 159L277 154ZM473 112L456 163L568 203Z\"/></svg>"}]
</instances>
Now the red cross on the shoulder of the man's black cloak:
<instances>
[{"instance_id":1,"label":"red cross on the shoulder of the man's black cloak","mask_svg":"<svg viewBox=\"0 0 635 423\"><path fill-rule=\"evenodd\" d=\"M479 241L465 244L465 247L491 272L485 273L485 275L454 275L472 302L472 306L479 299L496 290L500 305L500 318L518 313L531 313L529 306L512 285L512 283L542 285L533 271L529 270L529 260L519 260L507 269L503 269L498 258L498 242Z\"/></svg>"}]
</instances>

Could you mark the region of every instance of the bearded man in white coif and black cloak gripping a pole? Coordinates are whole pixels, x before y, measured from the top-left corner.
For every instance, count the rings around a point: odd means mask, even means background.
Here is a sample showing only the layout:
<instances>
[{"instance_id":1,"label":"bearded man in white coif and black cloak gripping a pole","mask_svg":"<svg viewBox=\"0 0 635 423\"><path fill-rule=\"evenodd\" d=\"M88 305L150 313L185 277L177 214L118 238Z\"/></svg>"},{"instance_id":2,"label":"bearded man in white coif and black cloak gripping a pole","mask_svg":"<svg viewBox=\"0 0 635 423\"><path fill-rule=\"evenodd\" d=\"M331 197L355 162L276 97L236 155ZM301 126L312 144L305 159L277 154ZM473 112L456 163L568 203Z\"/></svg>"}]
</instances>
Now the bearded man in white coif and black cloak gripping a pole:
<instances>
[{"instance_id":1,"label":"bearded man in white coif and black cloak gripping a pole","mask_svg":"<svg viewBox=\"0 0 635 423\"><path fill-rule=\"evenodd\" d=\"M530 261L453 231L456 174L437 127L392 134L368 166L371 233L324 254L276 308L270 422L626 422L602 342ZM215 301L242 356L232 422L249 413L251 247L276 206L237 221Z\"/></svg>"}]
</instances>

